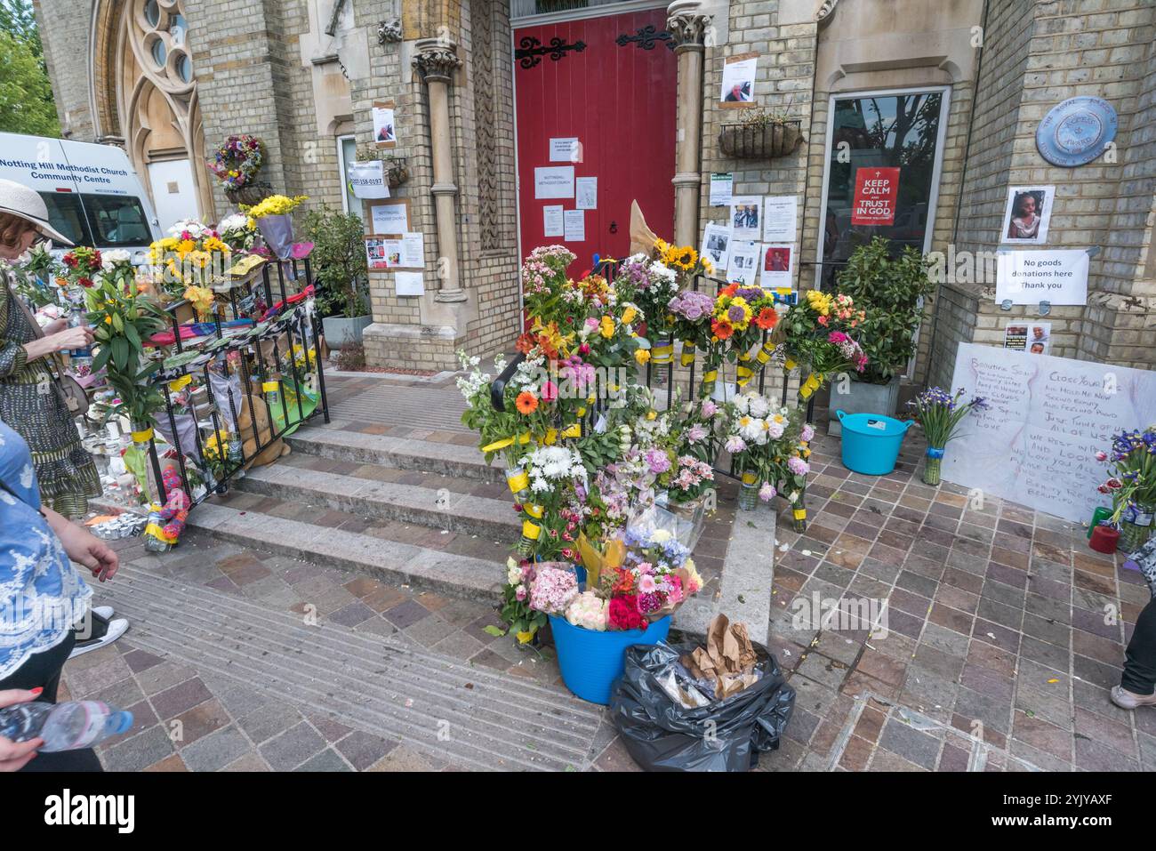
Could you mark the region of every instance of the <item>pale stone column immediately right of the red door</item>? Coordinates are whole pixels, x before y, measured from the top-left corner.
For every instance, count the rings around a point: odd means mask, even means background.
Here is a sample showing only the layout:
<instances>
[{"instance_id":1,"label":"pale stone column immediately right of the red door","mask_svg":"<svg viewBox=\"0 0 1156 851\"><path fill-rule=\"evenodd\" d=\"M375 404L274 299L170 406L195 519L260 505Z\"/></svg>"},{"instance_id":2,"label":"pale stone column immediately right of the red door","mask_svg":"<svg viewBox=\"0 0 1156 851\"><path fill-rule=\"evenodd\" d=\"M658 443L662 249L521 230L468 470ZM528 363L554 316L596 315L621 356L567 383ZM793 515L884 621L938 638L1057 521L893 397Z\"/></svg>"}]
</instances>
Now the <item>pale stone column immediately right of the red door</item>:
<instances>
[{"instance_id":1,"label":"pale stone column immediately right of the red door","mask_svg":"<svg viewBox=\"0 0 1156 851\"><path fill-rule=\"evenodd\" d=\"M674 176L674 242L698 244L698 199L703 177L703 52L710 15L699 0L674 0L667 7L666 28L679 58L679 141Z\"/></svg>"}]
</instances>

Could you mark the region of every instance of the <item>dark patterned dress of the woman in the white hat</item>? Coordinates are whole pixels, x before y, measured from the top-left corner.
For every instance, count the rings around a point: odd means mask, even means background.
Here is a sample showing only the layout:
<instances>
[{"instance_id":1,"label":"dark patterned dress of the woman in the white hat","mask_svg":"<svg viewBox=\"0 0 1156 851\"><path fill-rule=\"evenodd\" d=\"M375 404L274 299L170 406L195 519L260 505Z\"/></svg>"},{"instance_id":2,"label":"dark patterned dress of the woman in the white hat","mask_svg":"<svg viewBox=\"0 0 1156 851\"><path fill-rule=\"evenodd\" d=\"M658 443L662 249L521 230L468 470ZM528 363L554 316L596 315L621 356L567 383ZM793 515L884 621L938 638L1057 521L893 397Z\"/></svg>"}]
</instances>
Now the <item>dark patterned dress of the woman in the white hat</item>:
<instances>
[{"instance_id":1,"label":"dark patterned dress of the woman in the white hat","mask_svg":"<svg viewBox=\"0 0 1156 851\"><path fill-rule=\"evenodd\" d=\"M28 360L24 343L35 339L28 314L6 286L0 293L0 422L28 442L45 503L65 517L81 517L89 497L102 493L101 475L52 380L52 358Z\"/></svg>"}]
</instances>

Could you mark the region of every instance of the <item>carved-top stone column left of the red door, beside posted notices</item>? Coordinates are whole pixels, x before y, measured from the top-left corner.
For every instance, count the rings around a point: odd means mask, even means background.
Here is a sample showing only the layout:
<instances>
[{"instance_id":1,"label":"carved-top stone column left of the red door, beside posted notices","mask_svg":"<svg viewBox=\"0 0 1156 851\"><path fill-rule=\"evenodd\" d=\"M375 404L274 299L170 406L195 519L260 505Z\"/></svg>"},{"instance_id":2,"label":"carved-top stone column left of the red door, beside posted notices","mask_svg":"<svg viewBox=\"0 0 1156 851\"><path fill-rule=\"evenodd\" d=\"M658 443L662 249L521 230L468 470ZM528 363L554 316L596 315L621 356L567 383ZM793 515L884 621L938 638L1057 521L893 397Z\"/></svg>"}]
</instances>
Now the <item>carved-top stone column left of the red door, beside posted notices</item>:
<instances>
[{"instance_id":1,"label":"carved-top stone column left of the red door, beside posted notices","mask_svg":"<svg viewBox=\"0 0 1156 851\"><path fill-rule=\"evenodd\" d=\"M438 291L435 301L464 302L458 267L458 217L453 183L453 151L450 145L450 81L461 65L458 46L444 38L421 38L414 54L414 67L425 81L430 105L430 147L433 154L435 216L437 219Z\"/></svg>"}]
</instances>

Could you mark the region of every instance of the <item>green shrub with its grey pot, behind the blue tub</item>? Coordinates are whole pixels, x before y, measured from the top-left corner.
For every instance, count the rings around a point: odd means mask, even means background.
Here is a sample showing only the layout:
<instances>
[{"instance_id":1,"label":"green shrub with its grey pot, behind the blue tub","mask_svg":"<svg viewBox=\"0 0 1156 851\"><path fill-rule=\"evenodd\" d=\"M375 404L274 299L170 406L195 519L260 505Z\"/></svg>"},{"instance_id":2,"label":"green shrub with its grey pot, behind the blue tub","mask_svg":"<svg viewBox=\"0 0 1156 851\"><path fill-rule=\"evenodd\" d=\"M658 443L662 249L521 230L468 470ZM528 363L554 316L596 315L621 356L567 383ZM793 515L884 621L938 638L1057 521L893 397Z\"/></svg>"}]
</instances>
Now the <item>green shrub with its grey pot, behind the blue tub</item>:
<instances>
[{"instance_id":1,"label":"green shrub with its grey pot, behind the blue tub","mask_svg":"<svg viewBox=\"0 0 1156 851\"><path fill-rule=\"evenodd\" d=\"M929 266L910 246L892 257L888 240L879 236L851 254L836 286L864 311L857 339L867 354L867 367L851 375L850 382L831 385L832 409L838 394L838 407L847 414L895 416L899 377L916 354L922 299L934 289ZM832 417L828 430L840 434L839 421Z\"/></svg>"}]
</instances>

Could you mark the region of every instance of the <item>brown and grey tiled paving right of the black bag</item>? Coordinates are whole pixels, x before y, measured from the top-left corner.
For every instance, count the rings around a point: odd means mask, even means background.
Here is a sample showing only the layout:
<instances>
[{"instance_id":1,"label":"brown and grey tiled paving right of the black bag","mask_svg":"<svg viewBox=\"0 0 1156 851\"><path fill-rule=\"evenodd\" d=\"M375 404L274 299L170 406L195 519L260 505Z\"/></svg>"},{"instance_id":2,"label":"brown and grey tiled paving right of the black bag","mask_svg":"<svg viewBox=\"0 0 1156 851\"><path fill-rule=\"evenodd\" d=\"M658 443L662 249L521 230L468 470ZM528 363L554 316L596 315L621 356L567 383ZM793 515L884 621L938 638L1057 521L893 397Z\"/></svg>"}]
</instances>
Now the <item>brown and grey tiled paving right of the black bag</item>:
<instances>
[{"instance_id":1,"label":"brown and grey tiled paving right of the black bag","mask_svg":"<svg viewBox=\"0 0 1156 851\"><path fill-rule=\"evenodd\" d=\"M875 478L843 467L837 438L814 444L810 525L779 517L772 649L799 700L768 765L1156 769L1156 710L1107 697L1141 576L1079 524L924 486L922 446L911 432ZM885 601L889 632L796 628L816 592Z\"/></svg>"}]
</instances>

